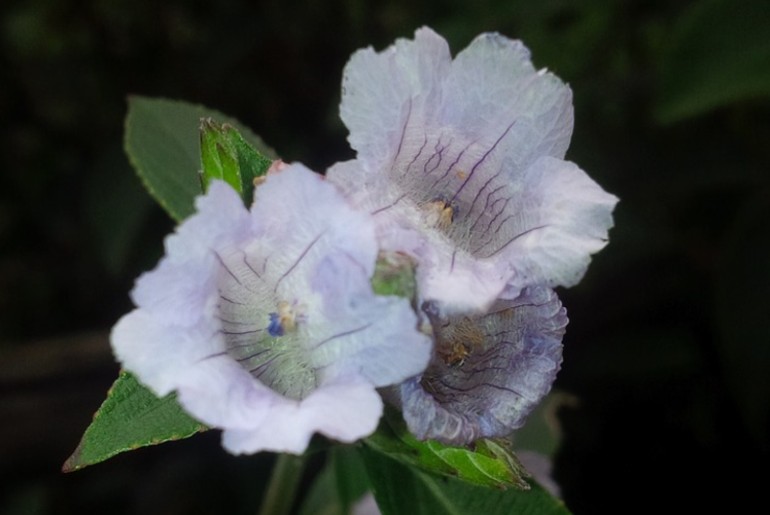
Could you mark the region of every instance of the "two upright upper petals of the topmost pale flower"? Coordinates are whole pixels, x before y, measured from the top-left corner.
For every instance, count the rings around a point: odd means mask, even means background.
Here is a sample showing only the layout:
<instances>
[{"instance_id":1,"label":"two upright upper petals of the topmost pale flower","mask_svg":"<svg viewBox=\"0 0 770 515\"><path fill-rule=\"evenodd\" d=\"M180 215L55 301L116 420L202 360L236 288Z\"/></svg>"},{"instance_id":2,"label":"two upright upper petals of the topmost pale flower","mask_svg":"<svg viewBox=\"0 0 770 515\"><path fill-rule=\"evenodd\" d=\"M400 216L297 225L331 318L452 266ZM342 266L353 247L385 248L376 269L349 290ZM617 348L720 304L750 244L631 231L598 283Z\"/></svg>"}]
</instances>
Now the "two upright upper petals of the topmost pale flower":
<instances>
[{"instance_id":1,"label":"two upright upper petals of the topmost pale flower","mask_svg":"<svg viewBox=\"0 0 770 515\"><path fill-rule=\"evenodd\" d=\"M455 136L459 148L474 142L488 149L500 138L507 166L523 170L543 155L564 157L572 93L554 75L535 70L520 41L482 34L452 61L446 41L422 28L413 41L351 57L340 116L358 158L371 168L397 155L438 150Z\"/></svg>"}]
</instances>

